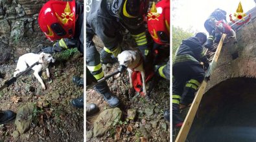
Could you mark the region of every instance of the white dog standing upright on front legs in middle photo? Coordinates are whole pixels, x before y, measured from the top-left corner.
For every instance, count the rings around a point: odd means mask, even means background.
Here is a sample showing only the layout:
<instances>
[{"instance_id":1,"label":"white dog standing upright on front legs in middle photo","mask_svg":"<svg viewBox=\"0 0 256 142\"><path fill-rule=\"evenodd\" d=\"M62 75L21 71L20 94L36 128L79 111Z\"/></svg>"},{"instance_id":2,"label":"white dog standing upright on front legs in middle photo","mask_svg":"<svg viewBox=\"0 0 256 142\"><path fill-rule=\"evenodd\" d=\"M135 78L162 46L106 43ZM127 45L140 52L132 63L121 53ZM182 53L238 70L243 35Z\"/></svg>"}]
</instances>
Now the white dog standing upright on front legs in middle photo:
<instances>
[{"instance_id":1,"label":"white dog standing upright on front legs in middle photo","mask_svg":"<svg viewBox=\"0 0 256 142\"><path fill-rule=\"evenodd\" d=\"M125 50L117 56L119 64L127 67L130 79L130 88L133 87L132 84L132 72L141 72L141 77L143 81L143 93L146 96L146 83L145 83L145 70L143 68L143 57L139 51L135 50Z\"/></svg>"}]
</instances>

